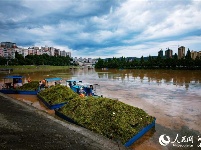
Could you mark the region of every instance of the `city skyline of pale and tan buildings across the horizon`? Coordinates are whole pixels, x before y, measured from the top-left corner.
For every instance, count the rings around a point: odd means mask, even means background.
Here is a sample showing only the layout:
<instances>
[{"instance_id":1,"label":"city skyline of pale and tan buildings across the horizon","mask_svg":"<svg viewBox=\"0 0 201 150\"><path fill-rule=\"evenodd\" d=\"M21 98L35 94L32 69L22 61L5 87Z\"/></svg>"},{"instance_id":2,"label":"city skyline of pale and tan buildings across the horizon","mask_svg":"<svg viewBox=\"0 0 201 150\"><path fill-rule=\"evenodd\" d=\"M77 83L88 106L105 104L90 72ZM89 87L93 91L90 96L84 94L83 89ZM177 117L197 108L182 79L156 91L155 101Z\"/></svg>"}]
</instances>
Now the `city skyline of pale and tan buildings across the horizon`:
<instances>
[{"instance_id":1,"label":"city skyline of pale and tan buildings across the horizon","mask_svg":"<svg viewBox=\"0 0 201 150\"><path fill-rule=\"evenodd\" d=\"M188 48L189 49L189 48ZM177 51L174 52L172 49L170 49L169 47L166 48L166 50L163 50L163 49L160 49L158 51L158 55L147 55L147 56L143 56L143 57L149 57L149 56L153 56L153 57L156 57L156 56L160 56L160 57L166 57L166 58L173 58L173 56L175 54L177 54L177 57L178 59L181 59L181 58L184 58L187 54L187 51L188 49L186 49L185 46L180 46L178 47ZM190 50L190 49L189 49ZM8 57L8 54L9 55L13 55L13 56L10 56L11 58L14 58L14 52L18 52L19 54L22 54L24 57L27 56L27 55L42 55L42 54L48 54L50 56L53 56L53 55L61 55L61 56L66 56L68 55L69 57L71 57L71 52L67 52L65 50L60 50L58 48L55 48L55 47L49 47L47 45L45 46L34 46L34 47L29 47L29 48L24 48L24 47L18 47L18 45L16 43L13 43L13 42L1 42L1 45L0 45L0 56L2 57ZM25 52L26 51L26 52ZM163 54L163 51L165 52ZM5 54L4 54L5 53ZM55 53L55 54L54 54ZM193 51L191 50L190 51L191 53L191 58L192 59L195 59L197 56L200 57L201 56L201 51ZM5 55L5 56L4 56ZM141 57L142 57L141 56ZM83 56L74 56L72 58L82 58ZM140 58L140 57L136 57L136 56L121 56L121 57L126 57L126 58L129 58L129 57L135 57L135 58ZM121 58L119 57L119 58ZM84 57L83 57L84 58ZM86 58L86 57L85 57ZM89 59L91 59L90 57L88 57ZM93 59L98 59L100 57L96 57L96 58L93 58ZM112 58L112 57L107 57L107 58L103 58L103 59L108 59L108 58ZM117 57L118 58L118 57Z\"/></svg>"}]
</instances>

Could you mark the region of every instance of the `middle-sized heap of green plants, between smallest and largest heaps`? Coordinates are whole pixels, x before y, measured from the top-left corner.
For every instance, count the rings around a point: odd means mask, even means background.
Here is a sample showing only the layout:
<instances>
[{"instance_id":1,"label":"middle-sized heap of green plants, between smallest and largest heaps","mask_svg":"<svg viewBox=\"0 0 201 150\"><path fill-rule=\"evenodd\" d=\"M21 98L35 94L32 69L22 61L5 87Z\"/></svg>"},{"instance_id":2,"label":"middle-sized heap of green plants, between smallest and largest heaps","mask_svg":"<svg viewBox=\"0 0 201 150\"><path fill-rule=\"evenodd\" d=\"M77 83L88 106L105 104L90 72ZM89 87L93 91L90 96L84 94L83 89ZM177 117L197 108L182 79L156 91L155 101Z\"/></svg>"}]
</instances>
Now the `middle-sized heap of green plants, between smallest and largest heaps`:
<instances>
[{"instance_id":1,"label":"middle-sized heap of green plants, between smallest and largest heaps","mask_svg":"<svg viewBox=\"0 0 201 150\"><path fill-rule=\"evenodd\" d=\"M79 95L73 92L69 87L59 84L40 91L38 96L52 105L68 102L75 97L79 97Z\"/></svg>"}]
</instances>

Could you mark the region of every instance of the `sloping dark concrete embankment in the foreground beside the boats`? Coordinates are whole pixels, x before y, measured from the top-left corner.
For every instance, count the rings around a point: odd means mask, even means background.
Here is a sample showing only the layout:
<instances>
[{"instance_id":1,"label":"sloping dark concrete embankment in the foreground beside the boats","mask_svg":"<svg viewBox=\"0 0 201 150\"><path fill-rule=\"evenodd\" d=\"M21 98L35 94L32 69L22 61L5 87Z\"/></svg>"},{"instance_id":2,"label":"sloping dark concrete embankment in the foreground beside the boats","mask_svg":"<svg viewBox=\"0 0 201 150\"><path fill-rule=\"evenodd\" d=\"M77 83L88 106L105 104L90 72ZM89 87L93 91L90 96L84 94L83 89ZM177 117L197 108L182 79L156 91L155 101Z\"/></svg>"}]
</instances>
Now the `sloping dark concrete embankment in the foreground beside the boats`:
<instances>
[{"instance_id":1,"label":"sloping dark concrete embankment in the foreground beside the boats","mask_svg":"<svg viewBox=\"0 0 201 150\"><path fill-rule=\"evenodd\" d=\"M127 148L0 93L0 149L125 150Z\"/></svg>"}]
</instances>

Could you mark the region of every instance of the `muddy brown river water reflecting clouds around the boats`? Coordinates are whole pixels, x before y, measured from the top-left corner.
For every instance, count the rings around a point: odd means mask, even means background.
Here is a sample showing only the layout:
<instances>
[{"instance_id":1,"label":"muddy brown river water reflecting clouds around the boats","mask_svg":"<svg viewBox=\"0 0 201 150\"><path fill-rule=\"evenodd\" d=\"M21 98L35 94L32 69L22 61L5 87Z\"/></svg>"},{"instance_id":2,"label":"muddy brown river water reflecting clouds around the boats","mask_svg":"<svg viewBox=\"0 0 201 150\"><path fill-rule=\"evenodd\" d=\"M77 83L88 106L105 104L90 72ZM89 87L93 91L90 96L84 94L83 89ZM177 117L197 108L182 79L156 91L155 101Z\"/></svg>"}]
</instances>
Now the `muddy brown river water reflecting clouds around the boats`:
<instances>
[{"instance_id":1,"label":"muddy brown river water reflecting clouds around the boats","mask_svg":"<svg viewBox=\"0 0 201 150\"><path fill-rule=\"evenodd\" d=\"M1 79L5 75L0 74ZM133 144L131 149L201 149L201 71L69 69L21 75L25 77L24 82L28 77L38 81L61 77L63 84L68 79L97 83L97 94L142 108L155 116L155 128ZM48 111L36 96L12 97ZM159 144L159 137L163 134L169 136L172 143ZM177 141L173 143L176 137ZM190 140L184 142L184 138L189 137L193 137L193 143ZM189 148L190 144L193 147Z\"/></svg>"}]
</instances>

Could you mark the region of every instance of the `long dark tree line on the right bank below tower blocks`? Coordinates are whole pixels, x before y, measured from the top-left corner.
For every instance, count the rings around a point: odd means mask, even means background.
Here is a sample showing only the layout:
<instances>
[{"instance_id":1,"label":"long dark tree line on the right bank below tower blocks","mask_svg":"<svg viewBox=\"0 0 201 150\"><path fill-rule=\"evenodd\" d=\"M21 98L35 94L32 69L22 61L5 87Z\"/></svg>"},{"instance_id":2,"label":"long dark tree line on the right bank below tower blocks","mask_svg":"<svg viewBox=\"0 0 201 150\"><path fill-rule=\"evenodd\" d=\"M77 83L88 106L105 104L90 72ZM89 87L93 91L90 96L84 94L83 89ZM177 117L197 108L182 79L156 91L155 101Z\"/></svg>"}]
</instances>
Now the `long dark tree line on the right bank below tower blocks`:
<instances>
[{"instance_id":1,"label":"long dark tree line on the right bank below tower blocks","mask_svg":"<svg viewBox=\"0 0 201 150\"><path fill-rule=\"evenodd\" d=\"M109 58L98 59L95 68L118 68L118 69L201 69L201 57L196 59L191 58L190 50L184 58L178 59L177 54L172 58L162 58L149 56L148 59L144 59L142 56L140 59L136 58L129 60L128 58Z\"/></svg>"}]
</instances>

